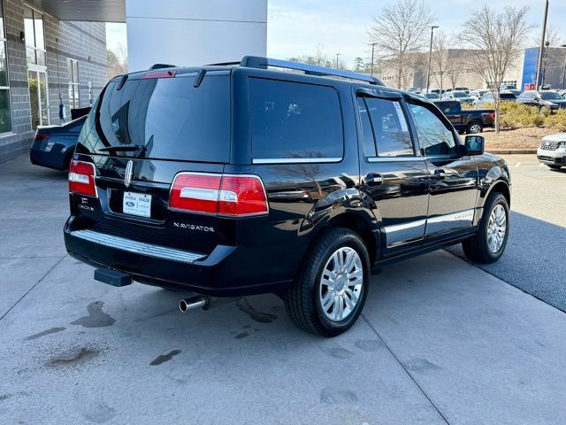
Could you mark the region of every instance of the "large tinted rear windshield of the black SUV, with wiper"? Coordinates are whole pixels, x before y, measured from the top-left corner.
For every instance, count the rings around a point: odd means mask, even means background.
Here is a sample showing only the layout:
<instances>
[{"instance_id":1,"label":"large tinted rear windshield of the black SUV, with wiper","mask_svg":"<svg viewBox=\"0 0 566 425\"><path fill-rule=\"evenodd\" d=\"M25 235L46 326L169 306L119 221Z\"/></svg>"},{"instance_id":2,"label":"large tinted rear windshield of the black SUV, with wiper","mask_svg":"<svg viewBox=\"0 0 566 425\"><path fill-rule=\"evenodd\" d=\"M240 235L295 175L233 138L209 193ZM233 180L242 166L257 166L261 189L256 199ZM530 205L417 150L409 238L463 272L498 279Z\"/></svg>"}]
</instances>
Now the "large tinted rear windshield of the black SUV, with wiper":
<instances>
[{"instance_id":1,"label":"large tinted rear windshield of the black SUV, with wiper","mask_svg":"<svg viewBox=\"0 0 566 425\"><path fill-rule=\"evenodd\" d=\"M111 81L96 101L77 151L100 155L228 162L230 78L206 75ZM130 151L108 147L130 145ZM129 146L128 146L129 147Z\"/></svg>"}]
</instances>

